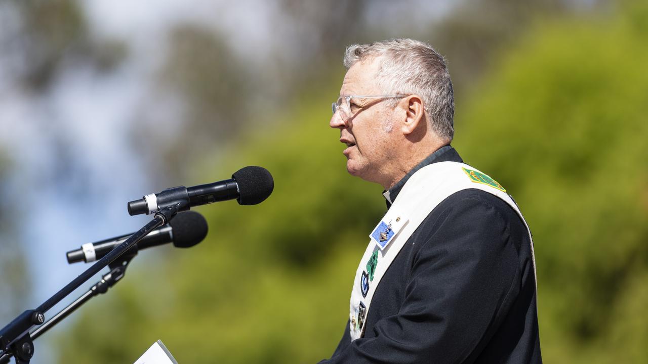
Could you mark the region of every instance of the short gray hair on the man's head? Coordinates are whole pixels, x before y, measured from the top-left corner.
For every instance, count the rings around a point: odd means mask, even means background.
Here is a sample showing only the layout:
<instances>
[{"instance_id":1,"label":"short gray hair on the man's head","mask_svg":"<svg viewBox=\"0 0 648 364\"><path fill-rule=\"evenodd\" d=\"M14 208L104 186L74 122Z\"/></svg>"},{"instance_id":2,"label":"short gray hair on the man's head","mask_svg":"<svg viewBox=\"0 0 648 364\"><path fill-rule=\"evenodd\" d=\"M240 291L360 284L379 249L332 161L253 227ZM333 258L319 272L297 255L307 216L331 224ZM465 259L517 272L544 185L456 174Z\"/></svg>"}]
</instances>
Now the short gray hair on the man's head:
<instances>
[{"instance_id":1,"label":"short gray hair on the man's head","mask_svg":"<svg viewBox=\"0 0 648 364\"><path fill-rule=\"evenodd\" d=\"M417 94L423 100L432 130L447 142L454 136L454 92L445 59L428 43L408 38L353 44L344 53L344 67L378 58L376 82L390 95ZM392 106L397 99L388 99Z\"/></svg>"}]
</instances>

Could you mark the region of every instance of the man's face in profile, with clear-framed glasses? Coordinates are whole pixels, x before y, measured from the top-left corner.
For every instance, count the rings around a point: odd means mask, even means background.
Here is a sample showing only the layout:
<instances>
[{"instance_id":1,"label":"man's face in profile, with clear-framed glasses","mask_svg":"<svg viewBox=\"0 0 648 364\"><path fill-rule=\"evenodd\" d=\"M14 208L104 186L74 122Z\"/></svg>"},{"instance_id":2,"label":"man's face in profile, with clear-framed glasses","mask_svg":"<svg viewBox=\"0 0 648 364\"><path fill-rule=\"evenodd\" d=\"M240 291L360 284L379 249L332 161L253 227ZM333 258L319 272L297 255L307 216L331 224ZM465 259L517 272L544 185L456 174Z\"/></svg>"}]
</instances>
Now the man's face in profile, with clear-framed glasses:
<instances>
[{"instance_id":1,"label":"man's face in profile, with clear-framed glasses","mask_svg":"<svg viewBox=\"0 0 648 364\"><path fill-rule=\"evenodd\" d=\"M344 76L340 95L381 95L375 83L376 60L355 63ZM390 163L393 163L395 131L394 112L384 99L351 98L351 108L357 113L342 120L340 111L330 119L329 126L340 129L340 142L347 145L342 152L347 157L347 171L353 176L384 185Z\"/></svg>"}]
</instances>

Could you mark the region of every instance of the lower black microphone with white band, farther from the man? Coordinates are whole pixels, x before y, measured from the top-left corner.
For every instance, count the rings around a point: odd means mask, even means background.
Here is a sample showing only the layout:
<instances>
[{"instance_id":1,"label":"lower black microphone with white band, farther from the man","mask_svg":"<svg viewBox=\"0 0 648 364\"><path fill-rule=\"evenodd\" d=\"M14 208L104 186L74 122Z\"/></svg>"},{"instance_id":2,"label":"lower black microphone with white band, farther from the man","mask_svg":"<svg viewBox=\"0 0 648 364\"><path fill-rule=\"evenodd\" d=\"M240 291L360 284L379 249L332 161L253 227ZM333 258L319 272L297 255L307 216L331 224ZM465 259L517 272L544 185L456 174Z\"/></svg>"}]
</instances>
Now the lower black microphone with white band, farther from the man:
<instances>
[{"instance_id":1,"label":"lower black microphone with white band, farther from the man","mask_svg":"<svg viewBox=\"0 0 648 364\"><path fill-rule=\"evenodd\" d=\"M105 255L119 244L122 244L132 234L126 234L102 240L96 243L81 245L81 249L67 252L67 262L69 264L84 261L86 263L94 262L103 258ZM157 245L173 243L176 247L192 247L205 238L207 235L207 222L198 212L187 211L177 214L170 223L158 227L151 231L142 240L137 242L135 251L154 247Z\"/></svg>"}]
</instances>

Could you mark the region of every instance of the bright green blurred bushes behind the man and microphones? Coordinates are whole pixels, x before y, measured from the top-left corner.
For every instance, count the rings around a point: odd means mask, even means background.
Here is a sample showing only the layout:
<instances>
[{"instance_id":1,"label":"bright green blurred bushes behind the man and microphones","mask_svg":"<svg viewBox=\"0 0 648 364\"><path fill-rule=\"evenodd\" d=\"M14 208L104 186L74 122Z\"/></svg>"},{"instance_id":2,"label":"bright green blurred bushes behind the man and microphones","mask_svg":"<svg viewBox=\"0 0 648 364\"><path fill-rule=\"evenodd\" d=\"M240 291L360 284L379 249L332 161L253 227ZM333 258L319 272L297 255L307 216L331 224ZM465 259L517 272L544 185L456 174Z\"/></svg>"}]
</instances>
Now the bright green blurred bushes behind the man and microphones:
<instances>
[{"instance_id":1,"label":"bright green blurred bushes behind the man and microphones","mask_svg":"<svg viewBox=\"0 0 648 364\"><path fill-rule=\"evenodd\" d=\"M507 187L534 233L547 363L647 362L647 24L639 2L537 19L457 108L457 149ZM180 363L330 356L385 209L380 187L347 176L327 127L341 77L309 83L266 115L277 122L196 162L212 171L198 183L266 166L275 192L258 206L199 209L205 242L148 266L135 259L58 337L60 362L132 362L156 339Z\"/></svg>"}]
</instances>

